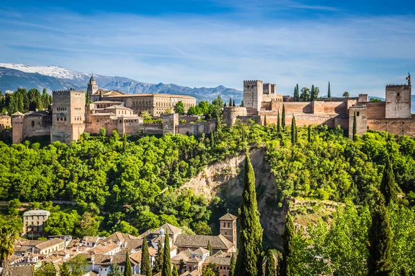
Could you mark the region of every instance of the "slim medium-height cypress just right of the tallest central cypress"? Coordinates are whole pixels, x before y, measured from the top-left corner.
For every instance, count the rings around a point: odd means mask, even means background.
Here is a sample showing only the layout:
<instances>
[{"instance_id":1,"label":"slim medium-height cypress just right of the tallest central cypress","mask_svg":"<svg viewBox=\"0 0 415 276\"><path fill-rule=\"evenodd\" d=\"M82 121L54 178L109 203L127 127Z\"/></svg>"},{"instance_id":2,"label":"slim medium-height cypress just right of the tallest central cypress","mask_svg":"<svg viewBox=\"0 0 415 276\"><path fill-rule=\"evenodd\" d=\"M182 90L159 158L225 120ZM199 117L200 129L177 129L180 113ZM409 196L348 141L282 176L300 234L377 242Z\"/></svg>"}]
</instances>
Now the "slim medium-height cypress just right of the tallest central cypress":
<instances>
[{"instance_id":1,"label":"slim medium-height cypress just right of the tallest central cypress","mask_svg":"<svg viewBox=\"0 0 415 276\"><path fill-rule=\"evenodd\" d=\"M290 213L288 213L286 217L286 227L283 234L283 253L282 253L282 261L279 266L279 275L280 276L292 276L293 275L293 268L291 268L291 259L293 259L293 238L295 234L295 226L294 226L294 219L291 217Z\"/></svg>"}]
</instances>

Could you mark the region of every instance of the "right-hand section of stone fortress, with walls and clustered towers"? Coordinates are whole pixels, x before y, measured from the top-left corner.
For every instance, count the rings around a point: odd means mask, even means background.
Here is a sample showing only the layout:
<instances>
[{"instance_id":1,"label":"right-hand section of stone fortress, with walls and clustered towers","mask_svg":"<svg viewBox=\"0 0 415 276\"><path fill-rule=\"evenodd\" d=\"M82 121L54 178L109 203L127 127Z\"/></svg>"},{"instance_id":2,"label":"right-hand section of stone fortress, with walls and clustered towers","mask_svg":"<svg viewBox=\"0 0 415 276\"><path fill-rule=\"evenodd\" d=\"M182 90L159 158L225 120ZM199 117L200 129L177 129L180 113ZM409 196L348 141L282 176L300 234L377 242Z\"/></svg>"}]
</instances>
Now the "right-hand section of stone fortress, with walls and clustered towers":
<instances>
[{"instance_id":1,"label":"right-hand section of stone fortress, with walls and clustered towers","mask_svg":"<svg viewBox=\"0 0 415 276\"><path fill-rule=\"evenodd\" d=\"M368 95L356 98L318 99L316 101L293 101L292 97L277 95L276 86L263 81L243 81L244 108L227 107L223 109L223 120L228 126L236 122L255 121L264 124L277 124L278 112L282 107L286 112L286 125L291 125L295 116L297 126L324 124L330 128L340 126L349 131L353 129L356 112L357 133L367 130L387 131L396 135L415 136L415 117L411 115L411 82L387 85L385 101L371 102ZM269 95L273 95L269 97ZM261 104L259 102L261 101Z\"/></svg>"}]
</instances>

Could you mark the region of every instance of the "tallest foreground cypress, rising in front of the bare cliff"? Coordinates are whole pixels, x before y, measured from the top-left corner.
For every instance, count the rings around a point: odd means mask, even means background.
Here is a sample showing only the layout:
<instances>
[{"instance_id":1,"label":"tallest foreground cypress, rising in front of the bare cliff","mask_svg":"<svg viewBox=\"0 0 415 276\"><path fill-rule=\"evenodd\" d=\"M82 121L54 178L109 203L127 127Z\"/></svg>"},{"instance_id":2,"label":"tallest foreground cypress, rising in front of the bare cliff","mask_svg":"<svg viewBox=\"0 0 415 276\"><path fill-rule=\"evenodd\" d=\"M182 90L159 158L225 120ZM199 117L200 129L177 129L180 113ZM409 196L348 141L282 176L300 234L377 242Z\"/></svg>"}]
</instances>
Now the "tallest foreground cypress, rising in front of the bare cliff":
<instances>
[{"instance_id":1,"label":"tallest foreground cypress, rising in front of the bare cliff","mask_svg":"<svg viewBox=\"0 0 415 276\"><path fill-rule=\"evenodd\" d=\"M245 158L245 175L241 208L239 208L241 239L235 272L239 276L258 276L262 271L261 243L263 229L259 223L255 173L248 151Z\"/></svg>"}]
</instances>

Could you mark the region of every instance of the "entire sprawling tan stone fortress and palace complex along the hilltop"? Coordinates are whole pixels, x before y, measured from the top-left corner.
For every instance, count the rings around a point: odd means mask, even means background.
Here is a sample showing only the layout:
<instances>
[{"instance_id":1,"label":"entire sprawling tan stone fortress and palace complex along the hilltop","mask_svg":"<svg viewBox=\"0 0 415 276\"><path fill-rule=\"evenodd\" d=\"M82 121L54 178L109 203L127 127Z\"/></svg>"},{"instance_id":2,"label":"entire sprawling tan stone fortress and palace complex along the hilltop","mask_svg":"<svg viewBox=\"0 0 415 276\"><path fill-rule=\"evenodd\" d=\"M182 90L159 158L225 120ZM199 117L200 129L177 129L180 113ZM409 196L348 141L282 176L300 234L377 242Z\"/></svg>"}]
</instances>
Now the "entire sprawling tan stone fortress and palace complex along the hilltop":
<instances>
[{"instance_id":1,"label":"entire sprawling tan stone fortress and palace complex along the hilltop","mask_svg":"<svg viewBox=\"0 0 415 276\"><path fill-rule=\"evenodd\" d=\"M387 85L385 101L369 101L368 95L355 98L317 99L315 101L293 101L291 96L277 94L275 84L263 81L243 81L243 107L223 107L223 121L227 126L250 120L257 124L277 123L284 106L286 124L294 116L297 126L324 124L330 128L340 126L352 136L353 119L356 116L356 132L362 135L367 130L387 131L396 135L415 136L415 117L411 114L411 79L405 84ZM134 94L98 89L92 76L88 83L89 98L77 90L53 91L51 112L15 112L10 117L0 116L0 130L12 126L12 142L17 144L26 137L50 135L50 141L70 143L83 132L100 133L104 128L108 135L116 130L120 135L165 135L180 133L199 135L210 133L216 121L200 122L195 116L178 116L171 113L178 101L185 111L196 105L196 98L186 95ZM162 123L144 123L140 115L148 111ZM166 113L169 112L169 113ZM181 121L181 124L179 124Z\"/></svg>"}]
</instances>

